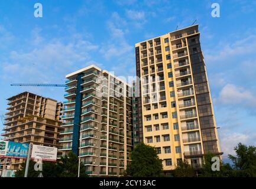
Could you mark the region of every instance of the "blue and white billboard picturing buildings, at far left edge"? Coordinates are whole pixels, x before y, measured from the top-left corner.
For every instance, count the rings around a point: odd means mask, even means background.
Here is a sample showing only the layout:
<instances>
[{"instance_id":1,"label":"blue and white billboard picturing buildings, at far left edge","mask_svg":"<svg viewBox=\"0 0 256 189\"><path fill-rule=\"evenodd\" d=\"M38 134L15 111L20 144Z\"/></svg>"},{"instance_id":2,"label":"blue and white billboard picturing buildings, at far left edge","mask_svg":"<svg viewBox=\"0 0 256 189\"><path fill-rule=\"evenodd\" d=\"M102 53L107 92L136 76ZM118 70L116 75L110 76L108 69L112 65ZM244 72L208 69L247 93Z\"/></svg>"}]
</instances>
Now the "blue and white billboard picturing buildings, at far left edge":
<instances>
[{"instance_id":1,"label":"blue and white billboard picturing buildings, at far left edge","mask_svg":"<svg viewBox=\"0 0 256 189\"><path fill-rule=\"evenodd\" d=\"M0 141L0 157L27 159L28 147L27 143Z\"/></svg>"}]
</instances>

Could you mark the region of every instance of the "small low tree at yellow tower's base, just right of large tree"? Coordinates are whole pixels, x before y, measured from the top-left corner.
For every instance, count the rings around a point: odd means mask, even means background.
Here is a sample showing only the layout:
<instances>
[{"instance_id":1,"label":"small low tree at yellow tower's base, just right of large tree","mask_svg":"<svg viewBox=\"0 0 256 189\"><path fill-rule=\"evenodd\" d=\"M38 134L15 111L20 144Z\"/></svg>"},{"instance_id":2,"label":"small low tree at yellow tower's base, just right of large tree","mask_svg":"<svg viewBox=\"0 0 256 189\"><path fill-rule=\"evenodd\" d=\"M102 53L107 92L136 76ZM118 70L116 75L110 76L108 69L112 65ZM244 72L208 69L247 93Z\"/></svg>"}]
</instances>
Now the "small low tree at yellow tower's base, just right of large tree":
<instances>
[{"instance_id":1,"label":"small low tree at yellow tower's base, just right of large tree","mask_svg":"<svg viewBox=\"0 0 256 189\"><path fill-rule=\"evenodd\" d=\"M173 171L174 177L196 177L196 171L193 167L187 162L186 159L181 161L179 165L176 166Z\"/></svg>"}]
</instances>

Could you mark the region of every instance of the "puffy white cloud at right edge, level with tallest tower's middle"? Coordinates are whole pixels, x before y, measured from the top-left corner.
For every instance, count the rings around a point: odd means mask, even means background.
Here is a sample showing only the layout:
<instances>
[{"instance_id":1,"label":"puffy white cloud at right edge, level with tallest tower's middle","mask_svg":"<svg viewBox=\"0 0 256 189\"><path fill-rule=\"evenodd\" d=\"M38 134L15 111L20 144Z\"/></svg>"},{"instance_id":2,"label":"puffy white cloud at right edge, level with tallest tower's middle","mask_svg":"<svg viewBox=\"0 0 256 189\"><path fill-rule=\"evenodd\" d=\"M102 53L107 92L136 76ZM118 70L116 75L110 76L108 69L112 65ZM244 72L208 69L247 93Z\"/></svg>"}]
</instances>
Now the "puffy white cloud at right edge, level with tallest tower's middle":
<instances>
[{"instance_id":1,"label":"puffy white cloud at right edge, level with tallest tower's middle","mask_svg":"<svg viewBox=\"0 0 256 189\"><path fill-rule=\"evenodd\" d=\"M218 100L225 105L256 106L254 94L250 90L234 84L226 84L219 93Z\"/></svg>"}]
</instances>

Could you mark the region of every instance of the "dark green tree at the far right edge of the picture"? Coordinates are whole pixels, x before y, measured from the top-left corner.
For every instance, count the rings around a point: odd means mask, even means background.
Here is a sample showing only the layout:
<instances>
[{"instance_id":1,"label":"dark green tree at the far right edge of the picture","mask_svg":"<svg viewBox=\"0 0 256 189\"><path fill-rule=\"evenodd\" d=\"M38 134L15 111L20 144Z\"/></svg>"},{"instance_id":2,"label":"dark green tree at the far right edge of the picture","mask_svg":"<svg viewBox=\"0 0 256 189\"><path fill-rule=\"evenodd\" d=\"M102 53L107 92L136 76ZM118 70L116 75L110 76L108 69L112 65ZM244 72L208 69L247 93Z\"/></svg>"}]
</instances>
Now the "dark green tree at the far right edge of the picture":
<instances>
[{"instance_id":1,"label":"dark green tree at the far right edge of the picture","mask_svg":"<svg viewBox=\"0 0 256 189\"><path fill-rule=\"evenodd\" d=\"M234 148L236 155L228 155L234 163L234 177L256 177L256 147L239 143Z\"/></svg>"}]
</instances>

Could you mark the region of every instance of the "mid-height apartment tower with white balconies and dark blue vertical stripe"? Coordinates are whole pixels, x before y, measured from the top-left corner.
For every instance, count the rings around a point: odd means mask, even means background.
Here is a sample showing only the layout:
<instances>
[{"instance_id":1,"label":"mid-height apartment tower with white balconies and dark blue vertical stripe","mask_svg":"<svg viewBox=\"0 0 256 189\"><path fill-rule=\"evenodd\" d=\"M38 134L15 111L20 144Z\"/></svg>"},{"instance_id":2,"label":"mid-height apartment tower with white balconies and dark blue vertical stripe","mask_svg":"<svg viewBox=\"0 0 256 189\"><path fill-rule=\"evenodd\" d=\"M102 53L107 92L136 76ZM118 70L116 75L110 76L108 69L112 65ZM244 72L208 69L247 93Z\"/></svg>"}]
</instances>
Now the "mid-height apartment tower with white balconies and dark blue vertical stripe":
<instances>
[{"instance_id":1,"label":"mid-height apartment tower with white balconies and dark blue vertical stripe","mask_svg":"<svg viewBox=\"0 0 256 189\"><path fill-rule=\"evenodd\" d=\"M132 87L94 65L66 78L59 151L77 154L89 175L122 175L132 151Z\"/></svg>"}]
</instances>

